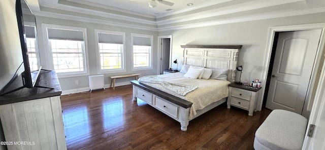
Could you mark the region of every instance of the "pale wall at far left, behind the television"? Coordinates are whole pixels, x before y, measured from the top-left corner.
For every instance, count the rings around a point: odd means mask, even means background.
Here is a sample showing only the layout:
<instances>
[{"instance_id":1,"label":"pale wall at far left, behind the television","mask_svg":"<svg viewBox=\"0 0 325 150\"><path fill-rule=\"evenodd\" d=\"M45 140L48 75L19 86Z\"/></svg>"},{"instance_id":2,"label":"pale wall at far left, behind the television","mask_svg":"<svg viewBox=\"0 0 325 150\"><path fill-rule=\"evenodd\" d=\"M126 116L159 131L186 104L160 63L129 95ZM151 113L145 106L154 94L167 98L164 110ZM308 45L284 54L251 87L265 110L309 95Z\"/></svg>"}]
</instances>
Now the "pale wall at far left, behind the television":
<instances>
[{"instance_id":1,"label":"pale wall at far left, behind the television","mask_svg":"<svg viewBox=\"0 0 325 150\"><path fill-rule=\"evenodd\" d=\"M0 1L0 90L8 84L22 63L15 2ZM6 141L3 132L0 122L0 141ZM0 150L3 149L7 149L7 146L0 145Z\"/></svg>"}]
</instances>

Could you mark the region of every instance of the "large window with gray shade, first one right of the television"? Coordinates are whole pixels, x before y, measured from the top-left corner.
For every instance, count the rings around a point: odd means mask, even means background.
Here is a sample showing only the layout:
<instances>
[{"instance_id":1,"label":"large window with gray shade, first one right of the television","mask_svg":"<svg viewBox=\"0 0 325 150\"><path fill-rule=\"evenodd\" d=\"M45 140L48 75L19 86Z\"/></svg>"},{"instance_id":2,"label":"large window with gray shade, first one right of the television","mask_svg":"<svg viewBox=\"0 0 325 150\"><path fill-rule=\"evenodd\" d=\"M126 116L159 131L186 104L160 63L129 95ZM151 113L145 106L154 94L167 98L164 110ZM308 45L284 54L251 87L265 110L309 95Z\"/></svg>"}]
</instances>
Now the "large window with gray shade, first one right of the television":
<instances>
[{"instance_id":1,"label":"large window with gray shade, first one right of the television","mask_svg":"<svg viewBox=\"0 0 325 150\"><path fill-rule=\"evenodd\" d=\"M78 27L44 25L48 35L52 66L59 77L87 75L86 29Z\"/></svg>"}]
</instances>

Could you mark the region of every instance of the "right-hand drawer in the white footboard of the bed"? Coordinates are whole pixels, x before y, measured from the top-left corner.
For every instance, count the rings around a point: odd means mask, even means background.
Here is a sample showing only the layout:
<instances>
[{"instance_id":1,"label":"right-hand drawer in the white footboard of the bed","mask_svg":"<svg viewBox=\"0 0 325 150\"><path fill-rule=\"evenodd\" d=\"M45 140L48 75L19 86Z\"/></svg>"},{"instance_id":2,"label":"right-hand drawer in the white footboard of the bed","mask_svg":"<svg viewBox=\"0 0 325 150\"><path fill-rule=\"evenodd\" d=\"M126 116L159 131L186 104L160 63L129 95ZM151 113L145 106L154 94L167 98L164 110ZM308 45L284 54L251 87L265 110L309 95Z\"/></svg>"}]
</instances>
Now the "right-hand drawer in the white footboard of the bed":
<instances>
[{"instance_id":1,"label":"right-hand drawer in the white footboard of the bed","mask_svg":"<svg viewBox=\"0 0 325 150\"><path fill-rule=\"evenodd\" d=\"M160 109L163 113L170 115L172 117L178 118L178 106L174 105L164 99L159 97L154 97L154 105Z\"/></svg>"}]
</instances>

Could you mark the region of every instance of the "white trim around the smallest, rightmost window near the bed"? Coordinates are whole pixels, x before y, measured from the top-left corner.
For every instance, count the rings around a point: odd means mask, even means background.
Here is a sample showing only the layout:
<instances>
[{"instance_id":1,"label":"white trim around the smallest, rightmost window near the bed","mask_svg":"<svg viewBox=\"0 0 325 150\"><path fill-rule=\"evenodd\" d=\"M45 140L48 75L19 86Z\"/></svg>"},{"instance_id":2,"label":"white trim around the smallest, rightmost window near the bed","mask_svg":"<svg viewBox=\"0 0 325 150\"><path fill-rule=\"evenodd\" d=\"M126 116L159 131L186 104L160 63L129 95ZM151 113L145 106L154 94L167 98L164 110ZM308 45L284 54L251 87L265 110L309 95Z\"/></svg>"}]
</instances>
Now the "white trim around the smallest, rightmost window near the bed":
<instances>
[{"instance_id":1,"label":"white trim around the smallest, rightmost window near the bed","mask_svg":"<svg viewBox=\"0 0 325 150\"><path fill-rule=\"evenodd\" d=\"M133 37L134 36L142 36L142 37L149 37L150 38L150 44L151 44L151 52L150 52L150 59L149 59L149 66L147 67L134 67L134 60L133 60ZM150 70L152 69L152 51L153 51L153 35L149 34L139 34L139 33L131 33L131 62L132 62L132 71L138 71L138 70Z\"/></svg>"}]
</instances>

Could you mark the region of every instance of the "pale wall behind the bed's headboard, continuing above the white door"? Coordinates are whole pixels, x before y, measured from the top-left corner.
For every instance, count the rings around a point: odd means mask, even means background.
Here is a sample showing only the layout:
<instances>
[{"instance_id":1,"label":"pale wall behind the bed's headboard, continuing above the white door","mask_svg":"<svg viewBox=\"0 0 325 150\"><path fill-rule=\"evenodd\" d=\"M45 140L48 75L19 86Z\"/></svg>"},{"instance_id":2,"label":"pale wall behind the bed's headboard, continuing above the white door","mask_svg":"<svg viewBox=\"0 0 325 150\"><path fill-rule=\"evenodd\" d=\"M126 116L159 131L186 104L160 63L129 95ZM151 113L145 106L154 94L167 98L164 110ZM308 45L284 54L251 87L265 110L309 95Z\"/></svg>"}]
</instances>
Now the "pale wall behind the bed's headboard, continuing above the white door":
<instances>
[{"instance_id":1,"label":"pale wall behind the bed's headboard, continuing above the white door","mask_svg":"<svg viewBox=\"0 0 325 150\"><path fill-rule=\"evenodd\" d=\"M159 32L159 35L173 35L172 60L182 60L183 49L180 45L243 45L239 51L238 65L243 65L242 78L249 80L263 76L269 41L270 27L299 24L324 23L325 13L283 17L206 27ZM172 63L172 67L176 64ZM181 66L179 66L179 69ZM239 79L239 72L236 76ZM266 79L262 79L265 84ZM263 89L264 90L264 87ZM260 96L260 100L262 97ZM261 101L262 102L262 101Z\"/></svg>"}]
</instances>

